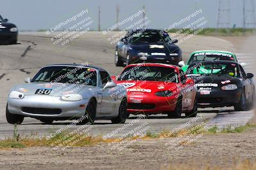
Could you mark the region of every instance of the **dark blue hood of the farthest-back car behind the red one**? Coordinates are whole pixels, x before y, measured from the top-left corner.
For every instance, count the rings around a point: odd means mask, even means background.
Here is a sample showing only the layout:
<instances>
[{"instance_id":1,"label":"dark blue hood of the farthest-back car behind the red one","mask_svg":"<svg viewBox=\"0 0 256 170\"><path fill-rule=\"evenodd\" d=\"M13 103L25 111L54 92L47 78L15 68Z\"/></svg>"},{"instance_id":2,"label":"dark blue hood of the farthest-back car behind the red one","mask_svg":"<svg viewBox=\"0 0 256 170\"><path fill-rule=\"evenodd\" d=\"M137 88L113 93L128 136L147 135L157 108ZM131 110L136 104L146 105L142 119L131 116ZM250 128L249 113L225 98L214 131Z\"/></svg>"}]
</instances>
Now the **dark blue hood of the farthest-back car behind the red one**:
<instances>
[{"instance_id":1,"label":"dark blue hood of the farthest-back car behind the red one","mask_svg":"<svg viewBox=\"0 0 256 170\"><path fill-rule=\"evenodd\" d=\"M132 43L132 50L138 52L163 52L163 53L179 53L179 46L165 43Z\"/></svg>"}]
</instances>

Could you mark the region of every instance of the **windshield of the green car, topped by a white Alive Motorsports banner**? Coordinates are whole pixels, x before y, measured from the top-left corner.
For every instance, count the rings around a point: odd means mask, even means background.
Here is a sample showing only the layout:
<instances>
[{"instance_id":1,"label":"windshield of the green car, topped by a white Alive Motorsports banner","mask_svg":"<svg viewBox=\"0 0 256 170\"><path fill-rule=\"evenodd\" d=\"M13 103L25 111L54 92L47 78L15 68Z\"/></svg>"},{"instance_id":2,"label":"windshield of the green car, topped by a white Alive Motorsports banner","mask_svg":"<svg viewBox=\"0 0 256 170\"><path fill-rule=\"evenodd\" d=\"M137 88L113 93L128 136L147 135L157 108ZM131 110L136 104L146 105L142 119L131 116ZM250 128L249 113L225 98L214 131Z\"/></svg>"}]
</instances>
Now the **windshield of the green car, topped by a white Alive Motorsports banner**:
<instances>
[{"instance_id":1,"label":"windshield of the green car, topped by a white Alive Motorsports banner","mask_svg":"<svg viewBox=\"0 0 256 170\"><path fill-rule=\"evenodd\" d=\"M188 64L197 61L204 61L204 60L230 60L236 61L236 59L228 53L211 53L211 52L200 52L191 55ZM237 61L236 61L237 62Z\"/></svg>"}]
</instances>

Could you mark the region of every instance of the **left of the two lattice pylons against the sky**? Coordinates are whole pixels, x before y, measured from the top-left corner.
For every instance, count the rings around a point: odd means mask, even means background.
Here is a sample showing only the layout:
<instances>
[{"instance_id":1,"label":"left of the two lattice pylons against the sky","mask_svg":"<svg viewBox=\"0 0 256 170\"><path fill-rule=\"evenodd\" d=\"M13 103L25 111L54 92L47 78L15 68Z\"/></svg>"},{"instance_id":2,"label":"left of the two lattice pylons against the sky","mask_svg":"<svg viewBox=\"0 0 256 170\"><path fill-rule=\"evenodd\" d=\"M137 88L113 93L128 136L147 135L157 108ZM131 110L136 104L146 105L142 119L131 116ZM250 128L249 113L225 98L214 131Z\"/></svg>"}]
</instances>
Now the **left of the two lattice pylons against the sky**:
<instances>
[{"instance_id":1,"label":"left of the two lattice pylons against the sky","mask_svg":"<svg viewBox=\"0 0 256 170\"><path fill-rule=\"evenodd\" d=\"M221 27L230 28L230 0L219 0L216 35Z\"/></svg>"}]
</instances>

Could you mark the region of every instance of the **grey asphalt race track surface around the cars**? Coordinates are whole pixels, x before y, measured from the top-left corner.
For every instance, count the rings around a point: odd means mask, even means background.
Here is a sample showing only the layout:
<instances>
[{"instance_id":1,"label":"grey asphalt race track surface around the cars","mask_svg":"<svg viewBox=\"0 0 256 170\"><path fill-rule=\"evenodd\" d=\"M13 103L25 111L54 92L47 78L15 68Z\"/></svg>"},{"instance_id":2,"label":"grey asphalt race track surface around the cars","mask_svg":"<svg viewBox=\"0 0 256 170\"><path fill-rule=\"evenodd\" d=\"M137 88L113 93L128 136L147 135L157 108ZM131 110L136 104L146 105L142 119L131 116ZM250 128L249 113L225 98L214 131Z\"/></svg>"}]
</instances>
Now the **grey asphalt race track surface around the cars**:
<instances>
[{"instance_id":1,"label":"grey asphalt race track surface around the cars","mask_svg":"<svg viewBox=\"0 0 256 170\"><path fill-rule=\"evenodd\" d=\"M112 33L111 33L112 34ZM21 32L17 45L0 46L0 138L13 134L13 125L8 124L5 118L6 99L10 88L24 82L24 78L33 77L40 67L47 64L74 63L81 64L88 62L95 66L106 69L111 75L122 71L123 67L116 67L114 64L115 45L108 41L110 34L103 35L102 32L87 32L83 36L72 41L70 45L54 45L51 36L45 32ZM193 36L179 45L183 50L183 58L186 59L189 53L195 50L227 50L238 52L230 41L211 36ZM240 52L243 61L250 60L248 56ZM239 58L240 59L240 58ZM248 66L250 68L250 66ZM215 108L201 110L198 113L198 120L193 124L200 124L207 120L207 127L212 125L243 125L252 117L253 111L236 113L231 108ZM132 122L139 116L131 116L127 122ZM191 118L167 118L165 115L152 115L134 123L131 127L116 133L120 136L134 127L148 123L148 131L160 132L165 129L179 127ZM42 124L39 120L25 118L22 125L19 125L19 133L45 135L54 129L60 129L71 121L54 122L52 125ZM93 125L93 135L106 135L122 127L124 124L111 124L109 120L97 120ZM72 128L77 128L75 127Z\"/></svg>"}]
</instances>

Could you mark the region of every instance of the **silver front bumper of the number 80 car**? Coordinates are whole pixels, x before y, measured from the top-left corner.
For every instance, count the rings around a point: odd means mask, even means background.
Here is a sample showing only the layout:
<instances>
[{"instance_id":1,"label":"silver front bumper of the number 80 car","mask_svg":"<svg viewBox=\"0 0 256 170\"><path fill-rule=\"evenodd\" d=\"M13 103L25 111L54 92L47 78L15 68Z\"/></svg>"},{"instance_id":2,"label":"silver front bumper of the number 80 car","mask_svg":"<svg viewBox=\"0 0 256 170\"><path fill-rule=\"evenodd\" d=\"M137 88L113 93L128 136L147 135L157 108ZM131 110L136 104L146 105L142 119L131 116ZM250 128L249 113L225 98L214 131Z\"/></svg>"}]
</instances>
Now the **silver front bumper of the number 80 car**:
<instances>
[{"instance_id":1,"label":"silver front bumper of the number 80 car","mask_svg":"<svg viewBox=\"0 0 256 170\"><path fill-rule=\"evenodd\" d=\"M82 117L85 113L88 99L81 101L63 101L54 96L24 96L23 99L8 98L10 113L25 117ZM84 104L84 107L79 105Z\"/></svg>"}]
</instances>

